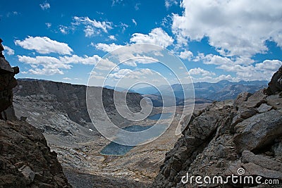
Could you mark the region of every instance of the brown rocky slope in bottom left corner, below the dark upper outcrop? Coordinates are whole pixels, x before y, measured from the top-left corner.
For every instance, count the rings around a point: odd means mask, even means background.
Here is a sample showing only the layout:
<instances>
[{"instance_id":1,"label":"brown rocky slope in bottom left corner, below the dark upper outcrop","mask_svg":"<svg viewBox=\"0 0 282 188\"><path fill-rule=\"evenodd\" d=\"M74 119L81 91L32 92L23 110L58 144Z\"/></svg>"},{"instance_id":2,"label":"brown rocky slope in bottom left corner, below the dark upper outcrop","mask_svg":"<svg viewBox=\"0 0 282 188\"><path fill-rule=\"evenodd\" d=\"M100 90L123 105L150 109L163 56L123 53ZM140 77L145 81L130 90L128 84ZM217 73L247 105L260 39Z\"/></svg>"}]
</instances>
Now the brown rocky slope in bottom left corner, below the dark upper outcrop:
<instances>
[{"instance_id":1,"label":"brown rocky slope in bottom left corner, below the dark upper outcrop","mask_svg":"<svg viewBox=\"0 0 282 188\"><path fill-rule=\"evenodd\" d=\"M32 125L0 120L0 187L71 187L56 153Z\"/></svg>"}]
</instances>

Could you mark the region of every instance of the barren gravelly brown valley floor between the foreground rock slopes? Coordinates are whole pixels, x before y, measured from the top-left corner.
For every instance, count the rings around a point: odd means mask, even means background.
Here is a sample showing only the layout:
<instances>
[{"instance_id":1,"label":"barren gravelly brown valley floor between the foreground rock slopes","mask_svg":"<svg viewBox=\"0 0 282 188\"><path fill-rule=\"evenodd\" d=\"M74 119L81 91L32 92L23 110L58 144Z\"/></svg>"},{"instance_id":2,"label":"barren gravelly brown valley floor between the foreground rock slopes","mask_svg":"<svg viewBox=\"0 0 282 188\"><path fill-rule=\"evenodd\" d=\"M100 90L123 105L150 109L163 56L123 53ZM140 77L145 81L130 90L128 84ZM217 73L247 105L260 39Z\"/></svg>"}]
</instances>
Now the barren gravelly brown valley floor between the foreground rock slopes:
<instances>
[{"instance_id":1,"label":"barren gravelly brown valley floor between the foreground rock slopes","mask_svg":"<svg viewBox=\"0 0 282 188\"><path fill-rule=\"evenodd\" d=\"M154 142L135 146L124 156L105 156L100 151L110 141L102 137L91 123L79 125L66 113L54 109L54 103L44 103L44 100L39 101L35 97L15 96L16 115L27 117L28 123L43 132L73 187L148 187L159 173L159 165L163 163L165 154L180 136L175 136L180 118L176 115L168 130ZM207 105L197 104L195 108ZM159 108L154 109L154 113L159 111ZM171 108L165 111L169 112ZM176 113L180 111L178 107ZM154 122L145 121L147 125Z\"/></svg>"}]
</instances>

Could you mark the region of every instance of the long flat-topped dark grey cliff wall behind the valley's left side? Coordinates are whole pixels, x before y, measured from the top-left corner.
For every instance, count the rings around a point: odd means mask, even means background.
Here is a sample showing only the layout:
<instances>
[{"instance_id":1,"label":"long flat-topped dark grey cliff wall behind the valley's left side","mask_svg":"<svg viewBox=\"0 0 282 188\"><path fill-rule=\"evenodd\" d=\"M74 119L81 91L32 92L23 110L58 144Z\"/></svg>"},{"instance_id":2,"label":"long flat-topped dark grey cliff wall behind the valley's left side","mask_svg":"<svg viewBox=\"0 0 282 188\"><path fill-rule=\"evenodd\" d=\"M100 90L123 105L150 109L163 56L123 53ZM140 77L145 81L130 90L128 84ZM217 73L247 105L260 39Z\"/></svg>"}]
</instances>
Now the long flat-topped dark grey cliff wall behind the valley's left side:
<instances>
[{"instance_id":1,"label":"long flat-topped dark grey cliff wall behind the valley's left side","mask_svg":"<svg viewBox=\"0 0 282 188\"><path fill-rule=\"evenodd\" d=\"M14 105L16 112L21 112L16 115L27 116L27 119L35 119L32 125L38 127L42 132L48 131L48 127L42 127L43 124L38 122L38 115L28 113L30 111L43 113L43 111L63 113L66 118L78 123L79 125L89 125L91 120L86 106L86 89L85 85L67 84L63 82L52 82L48 80L34 79L19 79L18 86L13 89ZM99 91L98 87L91 87L93 91ZM140 111L140 101L142 96L136 93L130 93L127 96L128 106L132 111ZM117 120L117 125L121 123L121 117L115 118L118 115L114 107L114 90L103 89L103 103L106 113L112 117L112 120ZM31 105L29 105L31 104ZM31 110L31 108L33 108ZM98 110L98 109L97 109ZM44 112L46 113L46 112ZM46 115L46 114L45 114ZM48 116L48 115L47 115ZM97 117L99 118L99 117ZM58 129L59 127L52 127ZM65 127L65 126L63 126ZM91 127L93 128L93 127ZM60 132L59 130L58 132Z\"/></svg>"}]
</instances>

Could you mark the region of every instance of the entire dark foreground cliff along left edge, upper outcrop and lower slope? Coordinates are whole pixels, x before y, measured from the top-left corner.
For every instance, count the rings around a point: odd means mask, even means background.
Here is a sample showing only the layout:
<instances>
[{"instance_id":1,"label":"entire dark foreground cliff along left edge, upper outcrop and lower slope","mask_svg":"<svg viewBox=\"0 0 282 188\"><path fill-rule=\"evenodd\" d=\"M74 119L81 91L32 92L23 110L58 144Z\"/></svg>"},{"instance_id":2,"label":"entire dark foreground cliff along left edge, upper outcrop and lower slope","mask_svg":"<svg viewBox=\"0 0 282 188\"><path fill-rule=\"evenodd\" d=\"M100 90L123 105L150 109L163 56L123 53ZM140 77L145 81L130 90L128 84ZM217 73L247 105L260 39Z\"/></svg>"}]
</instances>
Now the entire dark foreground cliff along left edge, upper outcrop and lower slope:
<instances>
[{"instance_id":1,"label":"entire dark foreground cliff along left edge, upper outcrop and lower slope","mask_svg":"<svg viewBox=\"0 0 282 188\"><path fill-rule=\"evenodd\" d=\"M43 134L16 118L13 87L18 72L0 53L0 187L71 187Z\"/></svg>"}]
</instances>

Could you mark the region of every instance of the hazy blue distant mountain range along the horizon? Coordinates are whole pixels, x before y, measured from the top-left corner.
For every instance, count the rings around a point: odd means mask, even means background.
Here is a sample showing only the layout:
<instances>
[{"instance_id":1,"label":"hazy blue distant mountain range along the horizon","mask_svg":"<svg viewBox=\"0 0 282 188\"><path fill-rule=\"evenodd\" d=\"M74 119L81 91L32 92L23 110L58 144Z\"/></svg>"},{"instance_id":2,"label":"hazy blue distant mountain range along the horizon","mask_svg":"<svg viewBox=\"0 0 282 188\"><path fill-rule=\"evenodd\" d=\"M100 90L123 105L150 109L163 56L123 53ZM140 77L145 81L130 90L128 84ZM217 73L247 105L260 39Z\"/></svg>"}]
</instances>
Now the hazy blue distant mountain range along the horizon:
<instances>
[{"instance_id":1,"label":"hazy blue distant mountain range along the horizon","mask_svg":"<svg viewBox=\"0 0 282 188\"><path fill-rule=\"evenodd\" d=\"M210 101L223 101L226 99L235 99L235 97L240 94L241 92L250 92L254 93L259 89L267 87L267 81L240 81L240 82L229 82L228 80L221 80L216 83L209 83L209 82L197 82L194 83L195 89L195 99L206 99ZM191 84L172 84L171 86L168 85L161 85L158 87L159 91L155 87L143 87L140 89L135 89L131 92L137 92L142 94L143 96L149 97L152 99L154 106L161 106L163 96L171 96L169 89L171 87L173 89L174 97L176 97L176 104L181 105L183 104L183 99L187 98L184 97L183 91L186 89L191 89ZM111 88L113 89L113 87ZM126 89L122 88L123 91ZM118 91L121 91L119 88ZM160 94L161 93L161 94Z\"/></svg>"}]
</instances>

